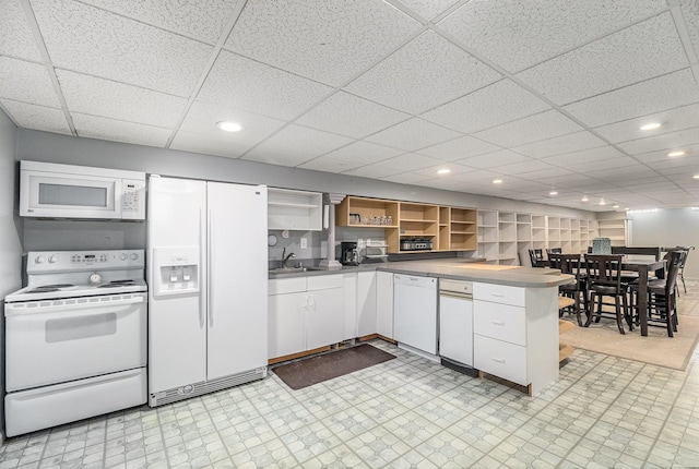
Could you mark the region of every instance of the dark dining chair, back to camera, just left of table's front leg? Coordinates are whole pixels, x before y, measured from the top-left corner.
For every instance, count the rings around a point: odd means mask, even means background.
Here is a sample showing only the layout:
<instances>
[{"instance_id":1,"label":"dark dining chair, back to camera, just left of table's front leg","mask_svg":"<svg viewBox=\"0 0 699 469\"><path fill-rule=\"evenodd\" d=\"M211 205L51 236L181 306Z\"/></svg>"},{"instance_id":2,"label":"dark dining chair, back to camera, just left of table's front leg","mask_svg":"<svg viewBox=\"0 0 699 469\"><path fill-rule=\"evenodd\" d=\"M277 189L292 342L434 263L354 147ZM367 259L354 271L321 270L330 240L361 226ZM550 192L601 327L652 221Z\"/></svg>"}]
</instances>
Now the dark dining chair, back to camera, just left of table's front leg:
<instances>
[{"instance_id":1,"label":"dark dining chair, back to camera, just left of table's front leg","mask_svg":"<svg viewBox=\"0 0 699 469\"><path fill-rule=\"evenodd\" d=\"M633 327L629 314L626 293L628 285L621 281L621 255L620 254L585 254L585 268L588 274L588 290L590 313L585 327L590 327L592 320L599 323L602 317L616 318L620 334L626 334L624 320L629 328ZM611 304L603 301L604 297L614 298L614 316L603 310L603 305ZM597 301L595 310L595 300ZM621 308L624 313L621 313Z\"/></svg>"}]
</instances>

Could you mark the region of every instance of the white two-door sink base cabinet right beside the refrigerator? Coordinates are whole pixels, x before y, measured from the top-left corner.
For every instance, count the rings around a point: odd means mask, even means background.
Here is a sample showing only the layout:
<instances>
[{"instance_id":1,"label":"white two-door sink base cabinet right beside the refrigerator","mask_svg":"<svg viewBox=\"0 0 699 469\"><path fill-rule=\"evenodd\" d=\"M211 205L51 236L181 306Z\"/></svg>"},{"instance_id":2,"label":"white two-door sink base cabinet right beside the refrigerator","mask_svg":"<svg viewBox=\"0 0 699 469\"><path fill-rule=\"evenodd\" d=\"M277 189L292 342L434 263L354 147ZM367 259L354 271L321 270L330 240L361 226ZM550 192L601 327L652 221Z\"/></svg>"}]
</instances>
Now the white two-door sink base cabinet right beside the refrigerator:
<instances>
[{"instance_id":1,"label":"white two-door sink base cabinet right beside the refrigerator","mask_svg":"<svg viewBox=\"0 0 699 469\"><path fill-rule=\"evenodd\" d=\"M342 275L280 278L269 282L270 359L342 340Z\"/></svg>"}]
</instances>

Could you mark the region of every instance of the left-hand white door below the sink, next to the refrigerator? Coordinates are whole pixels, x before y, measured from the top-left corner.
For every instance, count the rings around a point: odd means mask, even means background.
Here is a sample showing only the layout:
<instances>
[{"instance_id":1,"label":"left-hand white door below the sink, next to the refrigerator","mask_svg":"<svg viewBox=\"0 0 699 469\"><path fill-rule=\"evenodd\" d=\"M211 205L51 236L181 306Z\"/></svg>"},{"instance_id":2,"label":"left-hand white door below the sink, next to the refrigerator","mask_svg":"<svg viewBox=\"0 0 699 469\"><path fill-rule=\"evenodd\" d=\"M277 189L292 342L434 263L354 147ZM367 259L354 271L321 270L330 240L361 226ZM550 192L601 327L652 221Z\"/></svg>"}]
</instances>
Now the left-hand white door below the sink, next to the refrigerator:
<instances>
[{"instance_id":1,"label":"left-hand white door below the sink, next to the refrigerator","mask_svg":"<svg viewBox=\"0 0 699 469\"><path fill-rule=\"evenodd\" d=\"M269 358L306 350L307 302L306 292L269 297Z\"/></svg>"}]
</instances>

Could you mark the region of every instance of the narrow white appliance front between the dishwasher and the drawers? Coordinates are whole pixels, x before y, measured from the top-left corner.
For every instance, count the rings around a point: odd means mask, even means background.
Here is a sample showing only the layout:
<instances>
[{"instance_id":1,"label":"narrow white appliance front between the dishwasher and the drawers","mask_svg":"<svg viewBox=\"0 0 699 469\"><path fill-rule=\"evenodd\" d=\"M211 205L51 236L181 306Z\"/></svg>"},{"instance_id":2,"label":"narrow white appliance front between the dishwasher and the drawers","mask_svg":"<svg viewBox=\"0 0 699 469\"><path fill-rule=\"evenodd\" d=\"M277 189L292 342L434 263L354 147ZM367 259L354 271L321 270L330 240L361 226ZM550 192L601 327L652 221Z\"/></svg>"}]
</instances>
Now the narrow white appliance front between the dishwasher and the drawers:
<instances>
[{"instance_id":1,"label":"narrow white appliance front between the dishwasher and the drawers","mask_svg":"<svg viewBox=\"0 0 699 469\"><path fill-rule=\"evenodd\" d=\"M471 281L439 279L439 356L443 365L475 375Z\"/></svg>"}]
</instances>

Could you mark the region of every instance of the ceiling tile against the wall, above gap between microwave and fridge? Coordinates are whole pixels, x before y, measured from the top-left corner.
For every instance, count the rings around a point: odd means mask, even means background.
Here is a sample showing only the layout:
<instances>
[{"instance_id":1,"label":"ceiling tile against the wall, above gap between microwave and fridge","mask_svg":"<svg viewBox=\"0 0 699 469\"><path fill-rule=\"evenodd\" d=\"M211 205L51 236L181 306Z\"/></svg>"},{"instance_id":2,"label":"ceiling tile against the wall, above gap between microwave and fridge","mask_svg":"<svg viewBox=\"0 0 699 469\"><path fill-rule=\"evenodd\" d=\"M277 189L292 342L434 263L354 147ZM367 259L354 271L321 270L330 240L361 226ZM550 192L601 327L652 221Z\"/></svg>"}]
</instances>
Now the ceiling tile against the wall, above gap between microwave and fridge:
<instances>
[{"instance_id":1,"label":"ceiling tile against the wall, above gap between microwave and fridge","mask_svg":"<svg viewBox=\"0 0 699 469\"><path fill-rule=\"evenodd\" d=\"M71 112L78 136L164 147L169 129Z\"/></svg>"}]
</instances>

